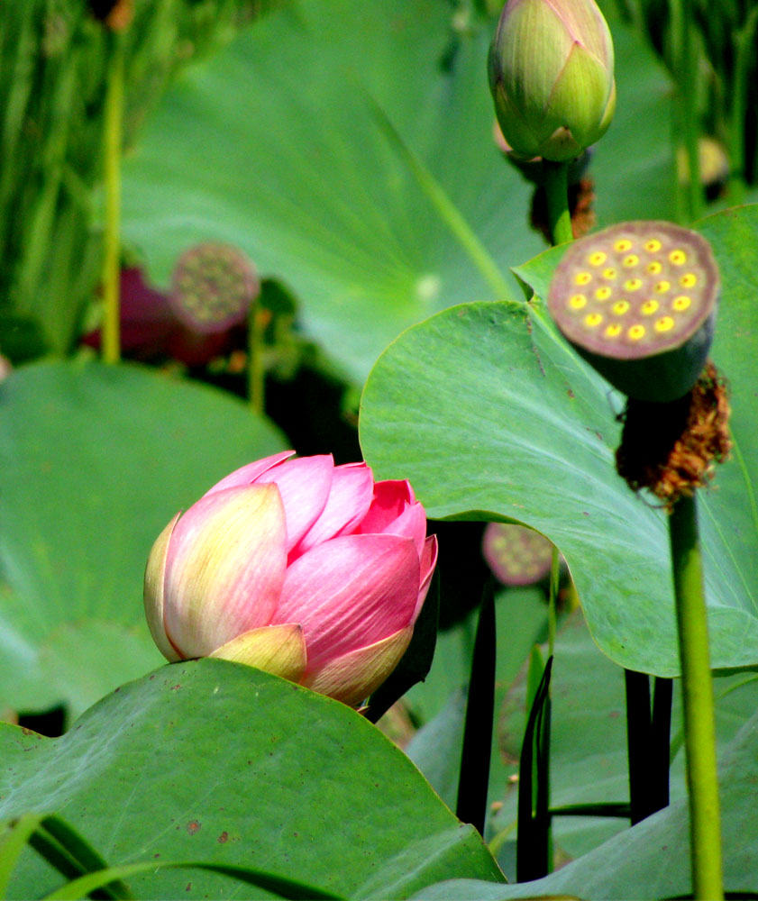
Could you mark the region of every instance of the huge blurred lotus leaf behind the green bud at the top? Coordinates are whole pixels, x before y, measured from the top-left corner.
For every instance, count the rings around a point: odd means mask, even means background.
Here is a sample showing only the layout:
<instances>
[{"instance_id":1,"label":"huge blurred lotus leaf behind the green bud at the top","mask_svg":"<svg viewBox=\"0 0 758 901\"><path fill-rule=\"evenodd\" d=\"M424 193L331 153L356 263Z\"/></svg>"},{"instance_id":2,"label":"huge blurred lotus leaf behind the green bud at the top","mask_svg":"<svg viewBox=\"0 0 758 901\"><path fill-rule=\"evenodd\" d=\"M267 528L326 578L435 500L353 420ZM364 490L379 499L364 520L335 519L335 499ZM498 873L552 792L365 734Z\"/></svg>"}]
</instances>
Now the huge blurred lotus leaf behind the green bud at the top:
<instances>
[{"instance_id":1,"label":"huge blurred lotus leaf behind the green bud at the top","mask_svg":"<svg viewBox=\"0 0 758 901\"><path fill-rule=\"evenodd\" d=\"M126 240L162 285L187 245L240 246L362 385L407 325L512 297L508 266L540 247L531 188L492 141L493 31L440 0L297 0L261 19L182 77L125 161ZM671 209L668 83L622 25L616 43L603 222Z\"/></svg>"}]
</instances>

